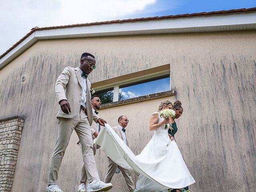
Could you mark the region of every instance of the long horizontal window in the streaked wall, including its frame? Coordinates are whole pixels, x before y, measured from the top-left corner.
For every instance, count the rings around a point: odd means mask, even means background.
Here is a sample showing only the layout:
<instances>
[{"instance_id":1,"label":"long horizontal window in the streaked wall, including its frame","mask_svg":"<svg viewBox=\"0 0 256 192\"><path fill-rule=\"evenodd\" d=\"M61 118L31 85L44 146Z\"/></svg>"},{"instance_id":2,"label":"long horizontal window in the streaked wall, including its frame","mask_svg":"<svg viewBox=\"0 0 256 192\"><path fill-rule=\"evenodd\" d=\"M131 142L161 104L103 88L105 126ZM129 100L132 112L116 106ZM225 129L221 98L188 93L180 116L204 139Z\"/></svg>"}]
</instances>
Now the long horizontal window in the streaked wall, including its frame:
<instances>
[{"instance_id":1,"label":"long horizontal window in the streaked wall, including its frame","mask_svg":"<svg viewBox=\"0 0 256 192\"><path fill-rule=\"evenodd\" d=\"M170 64L92 84L102 104L171 90Z\"/></svg>"}]
</instances>

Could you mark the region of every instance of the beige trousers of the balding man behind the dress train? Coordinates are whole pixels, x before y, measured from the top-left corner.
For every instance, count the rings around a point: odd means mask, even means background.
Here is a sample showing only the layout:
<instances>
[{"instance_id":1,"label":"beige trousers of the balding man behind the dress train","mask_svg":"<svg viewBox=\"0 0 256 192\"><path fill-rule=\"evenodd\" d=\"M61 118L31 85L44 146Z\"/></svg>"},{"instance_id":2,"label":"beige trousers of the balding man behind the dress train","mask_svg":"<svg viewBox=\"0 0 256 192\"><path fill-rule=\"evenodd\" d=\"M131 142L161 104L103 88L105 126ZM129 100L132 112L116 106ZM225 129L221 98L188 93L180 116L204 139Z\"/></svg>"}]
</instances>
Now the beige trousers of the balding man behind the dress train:
<instances>
[{"instance_id":1,"label":"beige trousers of the balding man behind the dress train","mask_svg":"<svg viewBox=\"0 0 256 192\"><path fill-rule=\"evenodd\" d=\"M112 177L113 177L117 167L118 167L118 164L116 164L114 161L112 161L108 157L108 171L107 171L105 179L104 179L105 183L110 183L111 182ZM132 180L132 176L131 176L130 170L124 169L124 168L122 168L120 166L119 166L119 168L120 168L120 170L121 170L121 172L122 172L122 174L124 176L124 179L126 181L126 184L127 184L128 188L129 188L129 190L134 190L135 186L134 186L134 182Z\"/></svg>"}]
</instances>

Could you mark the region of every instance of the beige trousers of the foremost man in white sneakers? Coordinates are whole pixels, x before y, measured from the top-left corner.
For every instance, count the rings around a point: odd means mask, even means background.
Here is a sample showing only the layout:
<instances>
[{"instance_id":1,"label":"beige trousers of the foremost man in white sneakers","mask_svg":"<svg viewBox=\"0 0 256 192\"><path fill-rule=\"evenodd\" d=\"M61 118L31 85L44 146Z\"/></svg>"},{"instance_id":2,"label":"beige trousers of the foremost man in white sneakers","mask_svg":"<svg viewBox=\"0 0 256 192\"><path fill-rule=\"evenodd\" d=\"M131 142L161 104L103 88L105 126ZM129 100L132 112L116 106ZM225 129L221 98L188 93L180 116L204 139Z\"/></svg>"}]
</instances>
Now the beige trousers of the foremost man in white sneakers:
<instances>
[{"instance_id":1,"label":"beige trousers of the foremost man in white sneakers","mask_svg":"<svg viewBox=\"0 0 256 192\"><path fill-rule=\"evenodd\" d=\"M99 179L93 154L92 132L86 113L80 110L73 118L59 117L58 124L58 139L52 154L48 184L56 184L58 180L60 164L73 130L76 131L82 145L82 155L88 182Z\"/></svg>"}]
</instances>

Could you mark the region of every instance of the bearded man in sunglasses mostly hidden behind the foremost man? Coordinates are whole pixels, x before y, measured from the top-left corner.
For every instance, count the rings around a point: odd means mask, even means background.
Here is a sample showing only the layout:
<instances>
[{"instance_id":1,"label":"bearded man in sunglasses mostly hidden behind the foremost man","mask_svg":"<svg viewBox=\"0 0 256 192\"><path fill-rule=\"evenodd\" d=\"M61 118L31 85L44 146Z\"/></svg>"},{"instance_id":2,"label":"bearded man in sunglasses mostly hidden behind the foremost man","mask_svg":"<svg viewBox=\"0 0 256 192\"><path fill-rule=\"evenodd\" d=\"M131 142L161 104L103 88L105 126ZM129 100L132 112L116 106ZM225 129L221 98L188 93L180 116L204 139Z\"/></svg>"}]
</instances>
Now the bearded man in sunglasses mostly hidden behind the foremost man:
<instances>
[{"instance_id":1,"label":"bearded man in sunglasses mostly hidden behind the foremost man","mask_svg":"<svg viewBox=\"0 0 256 192\"><path fill-rule=\"evenodd\" d=\"M96 114L98 114L98 112L96 110L99 110L100 109L100 98L99 96L97 95L94 95L92 96L91 98L91 105L92 105L92 111ZM94 140L99 132L100 132L100 124L96 123L96 122L92 122L92 125L91 125L91 130L92 130L92 139ZM77 144L81 146L81 143L80 141L77 142ZM97 144L93 144L93 154L95 156L96 154L96 149L100 148L99 145ZM82 164L82 167L81 167L81 174L80 174L80 182L79 182L79 186L78 186L78 192L86 192L86 181L87 181L87 175L86 175L86 170L85 170L85 167L84 167L84 163Z\"/></svg>"}]
</instances>

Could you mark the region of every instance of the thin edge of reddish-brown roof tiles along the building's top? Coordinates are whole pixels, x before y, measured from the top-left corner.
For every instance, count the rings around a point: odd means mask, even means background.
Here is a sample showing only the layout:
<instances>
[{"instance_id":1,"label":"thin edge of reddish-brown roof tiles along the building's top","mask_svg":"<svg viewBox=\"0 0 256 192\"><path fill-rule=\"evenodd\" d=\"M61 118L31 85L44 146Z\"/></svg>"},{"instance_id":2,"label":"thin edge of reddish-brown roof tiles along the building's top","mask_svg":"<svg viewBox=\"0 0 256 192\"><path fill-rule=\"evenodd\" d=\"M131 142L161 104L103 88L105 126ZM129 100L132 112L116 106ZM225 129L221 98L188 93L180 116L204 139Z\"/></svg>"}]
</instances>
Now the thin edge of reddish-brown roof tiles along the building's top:
<instances>
[{"instance_id":1,"label":"thin edge of reddish-brown roof tiles along the building's top","mask_svg":"<svg viewBox=\"0 0 256 192\"><path fill-rule=\"evenodd\" d=\"M147 18L134 18L134 19L124 19L124 20L112 20L112 21L103 21L103 22L93 22L93 23L84 23L84 24L72 24L72 25L63 25L63 26L52 26L52 27L42 27L42 28L32 28L31 31L26 34L21 40L16 42L10 49L4 52L0 59L20 44L25 38L32 34L36 30L45 30L45 29L54 29L54 28L68 28L68 27L77 27L77 26L87 26L87 25L98 25L98 24L110 24L110 23L119 23L119 22L134 22L134 21L143 21L143 20L154 20L154 19L168 19L168 18L178 18L178 17L191 17L191 16L201 16L201 15L213 15L213 14L225 14L225 13L236 13L236 12L247 12L247 11L256 11L254 8L241 8L241 9L232 9L232 10L221 10L213 12L200 12L200 13L191 13L191 14L179 14L179 15L169 15L169 16L160 16L160 17L147 17Z\"/></svg>"}]
</instances>

